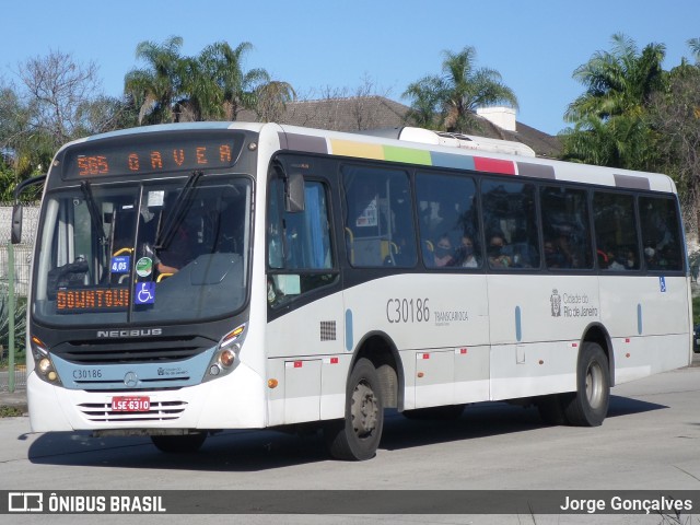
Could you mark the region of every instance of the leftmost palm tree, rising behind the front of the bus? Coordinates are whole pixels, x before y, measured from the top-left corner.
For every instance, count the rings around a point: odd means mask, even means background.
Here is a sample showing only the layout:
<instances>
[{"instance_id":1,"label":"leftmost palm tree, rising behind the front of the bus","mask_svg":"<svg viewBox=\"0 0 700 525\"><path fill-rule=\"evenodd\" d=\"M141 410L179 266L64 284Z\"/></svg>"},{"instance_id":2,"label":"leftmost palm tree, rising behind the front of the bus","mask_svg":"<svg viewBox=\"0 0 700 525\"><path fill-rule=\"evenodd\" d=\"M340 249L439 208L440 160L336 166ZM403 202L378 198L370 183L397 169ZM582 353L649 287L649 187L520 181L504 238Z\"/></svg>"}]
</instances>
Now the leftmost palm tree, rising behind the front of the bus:
<instances>
[{"instance_id":1,"label":"leftmost palm tree, rising behind the front of the bus","mask_svg":"<svg viewBox=\"0 0 700 525\"><path fill-rule=\"evenodd\" d=\"M145 69L133 69L125 77L125 92L137 103L139 124L147 117L150 122L176 120L173 112L182 94L183 77L187 62L180 57L183 38L172 36L163 45L141 42L136 57L148 63Z\"/></svg>"}]
</instances>

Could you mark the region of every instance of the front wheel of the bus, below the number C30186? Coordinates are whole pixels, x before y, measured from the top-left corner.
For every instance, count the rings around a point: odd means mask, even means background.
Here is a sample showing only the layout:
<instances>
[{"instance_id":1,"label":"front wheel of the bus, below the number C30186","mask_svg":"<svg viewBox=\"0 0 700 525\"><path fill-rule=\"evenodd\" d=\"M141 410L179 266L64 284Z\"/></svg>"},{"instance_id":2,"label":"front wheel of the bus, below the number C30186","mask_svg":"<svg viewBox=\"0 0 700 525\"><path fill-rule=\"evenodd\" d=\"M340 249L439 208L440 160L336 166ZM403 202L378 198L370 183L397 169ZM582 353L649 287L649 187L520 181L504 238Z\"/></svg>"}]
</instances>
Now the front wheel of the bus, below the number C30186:
<instances>
[{"instance_id":1,"label":"front wheel of the bus, below the number C30186","mask_svg":"<svg viewBox=\"0 0 700 525\"><path fill-rule=\"evenodd\" d=\"M346 389L346 418L324 425L328 452L336 459L362 462L374 457L384 428L380 376L372 362L360 359Z\"/></svg>"}]
</instances>

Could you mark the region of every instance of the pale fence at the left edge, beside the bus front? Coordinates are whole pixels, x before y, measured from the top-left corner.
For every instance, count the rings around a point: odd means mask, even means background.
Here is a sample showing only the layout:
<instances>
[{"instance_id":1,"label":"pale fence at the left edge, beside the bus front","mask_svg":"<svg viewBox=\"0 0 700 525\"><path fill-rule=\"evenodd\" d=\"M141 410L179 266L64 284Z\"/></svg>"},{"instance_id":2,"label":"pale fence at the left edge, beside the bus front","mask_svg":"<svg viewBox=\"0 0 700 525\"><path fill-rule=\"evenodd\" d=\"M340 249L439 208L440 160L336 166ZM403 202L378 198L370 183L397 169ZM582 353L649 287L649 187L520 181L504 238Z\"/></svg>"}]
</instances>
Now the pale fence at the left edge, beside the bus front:
<instances>
[{"instance_id":1,"label":"pale fence at the left edge, beside the bus front","mask_svg":"<svg viewBox=\"0 0 700 525\"><path fill-rule=\"evenodd\" d=\"M22 243L12 246L14 253L14 388L26 387L25 360L25 313L26 296L30 287L30 268L38 224L38 206L25 206L22 221ZM8 257L12 228L12 206L0 203L0 392L10 388L9 371L9 308L8 294L10 283L10 262Z\"/></svg>"}]
</instances>

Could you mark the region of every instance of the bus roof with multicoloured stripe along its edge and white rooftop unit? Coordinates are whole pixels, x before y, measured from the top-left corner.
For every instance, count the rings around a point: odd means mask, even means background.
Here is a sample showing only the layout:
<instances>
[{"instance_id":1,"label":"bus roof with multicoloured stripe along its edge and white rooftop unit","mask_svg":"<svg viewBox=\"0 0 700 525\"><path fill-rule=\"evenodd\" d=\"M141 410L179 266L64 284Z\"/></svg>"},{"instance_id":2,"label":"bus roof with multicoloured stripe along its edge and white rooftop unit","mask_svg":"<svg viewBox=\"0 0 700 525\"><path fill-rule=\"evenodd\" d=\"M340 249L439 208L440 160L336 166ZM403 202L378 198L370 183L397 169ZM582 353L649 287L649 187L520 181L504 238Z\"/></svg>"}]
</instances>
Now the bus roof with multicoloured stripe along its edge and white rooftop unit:
<instances>
[{"instance_id":1,"label":"bus roof with multicoloured stripe along its edge and white rooftop unit","mask_svg":"<svg viewBox=\"0 0 700 525\"><path fill-rule=\"evenodd\" d=\"M113 137L211 129L275 133L282 150L676 192L674 182L663 174L541 159L536 158L532 149L518 142L411 127L351 133L271 122L178 122L95 135L65 144L59 152L73 144Z\"/></svg>"}]
</instances>

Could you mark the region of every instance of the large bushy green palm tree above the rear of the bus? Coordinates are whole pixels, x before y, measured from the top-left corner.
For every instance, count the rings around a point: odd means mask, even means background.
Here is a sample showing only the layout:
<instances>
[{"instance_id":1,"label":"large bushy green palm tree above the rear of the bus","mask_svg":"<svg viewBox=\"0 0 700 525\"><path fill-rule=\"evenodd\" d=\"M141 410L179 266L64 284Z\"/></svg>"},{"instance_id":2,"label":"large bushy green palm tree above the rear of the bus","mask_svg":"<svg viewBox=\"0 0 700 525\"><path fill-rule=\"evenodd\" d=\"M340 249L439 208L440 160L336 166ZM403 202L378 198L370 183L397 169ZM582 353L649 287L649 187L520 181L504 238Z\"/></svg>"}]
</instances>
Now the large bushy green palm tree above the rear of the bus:
<instances>
[{"instance_id":1,"label":"large bushy green palm tree above the rear of the bus","mask_svg":"<svg viewBox=\"0 0 700 525\"><path fill-rule=\"evenodd\" d=\"M571 103L562 133L564 158L607 166L652 170L656 159L649 122L652 94L664 90L665 47L649 44L640 52L622 34L611 51L597 51L574 70L585 92Z\"/></svg>"}]
</instances>

